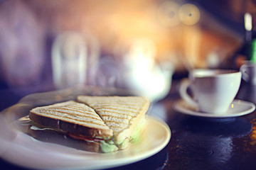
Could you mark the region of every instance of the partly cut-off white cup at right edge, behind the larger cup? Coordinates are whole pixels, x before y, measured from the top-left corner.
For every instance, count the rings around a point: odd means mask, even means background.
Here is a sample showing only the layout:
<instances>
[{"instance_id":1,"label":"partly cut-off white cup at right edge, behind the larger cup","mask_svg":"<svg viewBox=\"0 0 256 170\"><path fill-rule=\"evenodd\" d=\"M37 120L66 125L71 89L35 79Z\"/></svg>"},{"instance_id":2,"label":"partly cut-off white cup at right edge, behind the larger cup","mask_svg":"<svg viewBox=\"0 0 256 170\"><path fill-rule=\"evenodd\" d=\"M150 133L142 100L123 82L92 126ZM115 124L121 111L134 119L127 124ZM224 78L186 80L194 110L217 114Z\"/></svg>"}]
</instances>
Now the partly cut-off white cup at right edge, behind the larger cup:
<instances>
[{"instance_id":1,"label":"partly cut-off white cup at right edge, behind the larger cup","mask_svg":"<svg viewBox=\"0 0 256 170\"><path fill-rule=\"evenodd\" d=\"M256 63L247 62L240 67L242 72L242 79L249 84L256 85Z\"/></svg>"}]
</instances>

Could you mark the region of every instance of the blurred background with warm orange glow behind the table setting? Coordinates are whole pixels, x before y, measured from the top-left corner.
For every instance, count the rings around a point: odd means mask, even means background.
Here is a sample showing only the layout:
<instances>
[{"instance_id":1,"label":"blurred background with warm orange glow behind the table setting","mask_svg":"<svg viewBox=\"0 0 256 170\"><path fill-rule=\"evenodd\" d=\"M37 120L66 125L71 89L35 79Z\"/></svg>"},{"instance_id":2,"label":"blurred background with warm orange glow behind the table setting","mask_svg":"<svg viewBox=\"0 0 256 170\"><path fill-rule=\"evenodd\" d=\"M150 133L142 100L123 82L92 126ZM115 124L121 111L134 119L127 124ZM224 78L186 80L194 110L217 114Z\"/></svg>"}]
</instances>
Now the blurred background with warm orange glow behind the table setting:
<instances>
[{"instance_id":1,"label":"blurred background with warm orange glow behind the table setting","mask_svg":"<svg viewBox=\"0 0 256 170\"><path fill-rule=\"evenodd\" d=\"M189 69L239 69L255 17L255 0L0 0L0 95L83 84L159 100Z\"/></svg>"}]
</instances>

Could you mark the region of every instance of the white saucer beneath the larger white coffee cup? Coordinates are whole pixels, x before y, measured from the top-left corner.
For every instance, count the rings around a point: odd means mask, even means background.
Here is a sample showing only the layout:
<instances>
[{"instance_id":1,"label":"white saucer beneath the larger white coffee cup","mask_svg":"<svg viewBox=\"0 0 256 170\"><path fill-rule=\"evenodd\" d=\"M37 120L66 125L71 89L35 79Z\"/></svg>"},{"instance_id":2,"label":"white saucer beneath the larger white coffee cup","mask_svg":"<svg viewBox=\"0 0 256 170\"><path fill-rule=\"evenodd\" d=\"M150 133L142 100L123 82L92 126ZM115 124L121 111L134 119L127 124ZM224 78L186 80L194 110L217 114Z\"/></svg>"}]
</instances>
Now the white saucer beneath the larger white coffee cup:
<instances>
[{"instance_id":1,"label":"white saucer beneath the larger white coffee cup","mask_svg":"<svg viewBox=\"0 0 256 170\"><path fill-rule=\"evenodd\" d=\"M189 105L188 103L186 103L186 101L183 100L175 103L174 108L180 113L200 116L204 118L233 118L252 113L252 111L255 111L255 104L248 101L234 100L231 103L230 108L228 108L228 111L220 115L214 113L200 112L198 108Z\"/></svg>"}]
</instances>

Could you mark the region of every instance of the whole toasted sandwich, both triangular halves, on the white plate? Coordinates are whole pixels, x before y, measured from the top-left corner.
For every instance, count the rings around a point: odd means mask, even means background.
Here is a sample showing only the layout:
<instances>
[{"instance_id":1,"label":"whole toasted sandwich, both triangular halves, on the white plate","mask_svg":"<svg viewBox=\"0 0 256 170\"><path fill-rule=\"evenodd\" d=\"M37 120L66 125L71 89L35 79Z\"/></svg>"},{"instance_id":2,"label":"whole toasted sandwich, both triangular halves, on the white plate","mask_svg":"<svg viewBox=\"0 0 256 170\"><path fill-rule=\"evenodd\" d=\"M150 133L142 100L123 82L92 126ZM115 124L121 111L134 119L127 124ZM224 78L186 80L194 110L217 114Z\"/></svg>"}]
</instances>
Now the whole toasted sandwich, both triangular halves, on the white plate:
<instances>
[{"instance_id":1,"label":"whole toasted sandwich, both triangular halves, on the white plate","mask_svg":"<svg viewBox=\"0 0 256 170\"><path fill-rule=\"evenodd\" d=\"M90 152L114 152L139 137L149 108L144 97L78 96L78 102L33 108L28 135Z\"/></svg>"}]
</instances>

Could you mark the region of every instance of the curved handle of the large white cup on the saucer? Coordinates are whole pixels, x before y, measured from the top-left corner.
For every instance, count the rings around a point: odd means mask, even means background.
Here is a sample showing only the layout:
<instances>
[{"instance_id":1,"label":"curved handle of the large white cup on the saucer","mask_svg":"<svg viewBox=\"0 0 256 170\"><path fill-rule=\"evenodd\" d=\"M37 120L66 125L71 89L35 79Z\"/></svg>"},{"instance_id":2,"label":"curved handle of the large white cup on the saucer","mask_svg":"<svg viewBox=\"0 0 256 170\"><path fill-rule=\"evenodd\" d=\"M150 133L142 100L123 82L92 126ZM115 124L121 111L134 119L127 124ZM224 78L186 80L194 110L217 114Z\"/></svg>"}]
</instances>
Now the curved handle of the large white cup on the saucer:
<instances>
[{"instance_id":1,"label":"curved handle of the large white cup on the saucer","mask_svg":"<svg viewBox=\"0 0 256 170\"><path fill-rule=\"evenodd\" d=\"M193 100L193 98L191 98L191 96L189 96L187 93L188 87L190 85L191 85L191 81L189 81L188 79L183 79L181 81L179 94L181 95L181 98L183 98L183 100L186 101L188 104L190 104L193 107L198 108L198 103L196 103L196 101Z\"/></svg>"}]
</instances>

